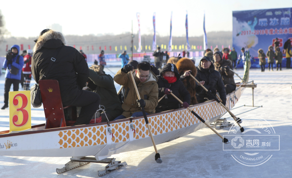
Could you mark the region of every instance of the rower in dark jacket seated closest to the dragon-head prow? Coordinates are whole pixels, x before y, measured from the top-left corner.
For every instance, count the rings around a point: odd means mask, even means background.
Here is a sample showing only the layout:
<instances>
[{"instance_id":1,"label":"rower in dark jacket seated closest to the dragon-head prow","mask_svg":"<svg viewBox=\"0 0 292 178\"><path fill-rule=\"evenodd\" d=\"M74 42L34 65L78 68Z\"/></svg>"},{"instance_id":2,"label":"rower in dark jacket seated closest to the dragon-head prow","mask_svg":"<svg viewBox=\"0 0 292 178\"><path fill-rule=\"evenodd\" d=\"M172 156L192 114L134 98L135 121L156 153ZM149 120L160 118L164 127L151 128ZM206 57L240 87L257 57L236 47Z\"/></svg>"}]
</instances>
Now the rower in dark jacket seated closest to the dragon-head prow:
<instances>
[{"instance_id":1,"label":"rower in dark jacket seated closest to the dragon-head prow","mask_svg":"<svg viewBox=\"0 0 292 178\"><path fill-rule=\"evenodd\" d=\"M220 52L214 53L213 57L215 60L215 70L220 72L225 86L226 94L229 94L236 89L236 84L233 77L234 73L230 71L230 69L233 70L232 62L229 59L222 59L222 55Z\"/></svg>"}]
</instances>

